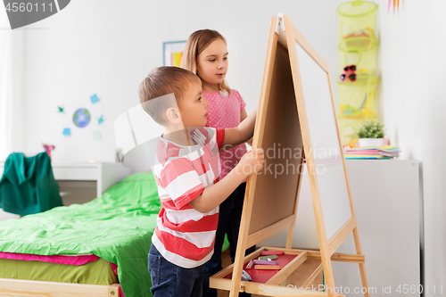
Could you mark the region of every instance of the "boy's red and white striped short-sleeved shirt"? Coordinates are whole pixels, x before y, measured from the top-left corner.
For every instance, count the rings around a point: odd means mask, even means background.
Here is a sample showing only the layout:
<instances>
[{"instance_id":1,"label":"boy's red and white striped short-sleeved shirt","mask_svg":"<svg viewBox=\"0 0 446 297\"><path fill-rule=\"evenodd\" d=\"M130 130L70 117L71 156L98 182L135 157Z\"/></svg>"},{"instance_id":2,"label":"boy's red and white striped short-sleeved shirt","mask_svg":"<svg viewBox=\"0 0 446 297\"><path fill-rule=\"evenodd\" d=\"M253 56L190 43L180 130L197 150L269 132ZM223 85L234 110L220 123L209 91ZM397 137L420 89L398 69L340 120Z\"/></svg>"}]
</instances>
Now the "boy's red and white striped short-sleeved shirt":
<instances>
[{"instance_id":1,"label":"boy's red and white striped short-sleeved shirt","mask_svg":"<svg viewBox=\"0 0 446 297\"><path fill-rule=\"evenodd\" d=\"M199 144L183 146L160 136L159 164L153 168L162 208L152 243L166 260L182 268L198 267L213 254L219 206L202 213L188 203L219 181L225 129L199 128L191 135L200 135Z\"/></svg>"}]
</instances>

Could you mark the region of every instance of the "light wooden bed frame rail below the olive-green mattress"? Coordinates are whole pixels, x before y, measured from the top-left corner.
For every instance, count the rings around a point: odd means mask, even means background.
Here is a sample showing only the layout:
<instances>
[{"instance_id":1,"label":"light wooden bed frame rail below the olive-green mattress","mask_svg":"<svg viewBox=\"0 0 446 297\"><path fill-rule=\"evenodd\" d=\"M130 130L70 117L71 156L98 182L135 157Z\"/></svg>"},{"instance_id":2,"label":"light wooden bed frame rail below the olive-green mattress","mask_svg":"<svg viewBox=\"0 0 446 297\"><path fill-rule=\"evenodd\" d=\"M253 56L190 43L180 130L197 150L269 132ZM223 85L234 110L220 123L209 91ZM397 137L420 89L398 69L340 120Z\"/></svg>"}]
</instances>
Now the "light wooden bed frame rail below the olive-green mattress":
<instances>
[{"instance_id":1,"label":"light wooden bed frame rail below the olive-green mattress","mask_svg":"<svg viewBox=\"0 0 446 297\"><path fill-rule=\"evenodd\" d=\"M0 278L0 296L120 297L120 284L85 285Z\"/></svg>"}]
</instances>

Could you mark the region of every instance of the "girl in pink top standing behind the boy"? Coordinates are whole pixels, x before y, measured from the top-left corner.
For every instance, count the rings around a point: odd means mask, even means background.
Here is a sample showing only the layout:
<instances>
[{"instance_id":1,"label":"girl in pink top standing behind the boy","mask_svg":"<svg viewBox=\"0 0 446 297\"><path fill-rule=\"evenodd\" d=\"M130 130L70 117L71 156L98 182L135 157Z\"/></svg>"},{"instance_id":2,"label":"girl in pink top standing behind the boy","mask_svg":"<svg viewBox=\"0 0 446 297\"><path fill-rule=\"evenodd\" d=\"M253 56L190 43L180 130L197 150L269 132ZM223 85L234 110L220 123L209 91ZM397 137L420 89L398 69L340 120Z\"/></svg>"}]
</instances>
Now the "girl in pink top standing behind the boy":
<instances>
[{"instance_id":1,"label":"girl in pink top standing behind the boy","mask_svg":"<svg viewBox=\"0 0 446 297\"><path fill-rule=\"evenodd\" d=\"M227 54L225 38L217 31L202 29L195 31L187 39L181 59L181 67L191 70L202 79L202 95L209 102L207 127L234 128L247 117L244 99L235 89L229 88L225 80L228 68ZM245 144L220 153L220 180L235 168L244 153L246 153ZM204 268L204 297L217 296L217 290L209 287L209 276L222 269L221 247L225 234L229 241L231 259L234 262L245 187L246 183L244 182L225 202L220 204L214 254ZM254 250L255 246L252 246L246 250L246 253L251 253ZM246 295L240 294L240 296Z\"/></svg>"}]
</instances>

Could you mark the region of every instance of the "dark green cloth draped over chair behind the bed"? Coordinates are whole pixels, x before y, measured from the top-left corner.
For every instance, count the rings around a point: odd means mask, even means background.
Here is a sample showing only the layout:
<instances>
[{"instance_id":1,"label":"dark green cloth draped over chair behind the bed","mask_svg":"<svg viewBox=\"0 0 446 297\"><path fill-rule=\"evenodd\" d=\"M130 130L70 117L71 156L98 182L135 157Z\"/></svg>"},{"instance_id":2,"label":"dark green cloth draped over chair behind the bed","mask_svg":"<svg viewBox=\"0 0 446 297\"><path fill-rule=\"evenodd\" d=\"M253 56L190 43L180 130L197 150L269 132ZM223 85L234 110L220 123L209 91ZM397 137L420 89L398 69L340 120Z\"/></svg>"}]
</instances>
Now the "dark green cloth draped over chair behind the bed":
<instances>
[{"instance_id":1,"label":"dark green cloth draped over chair behind the bed","mask_svg":"<svg viewBox=\"0 0 446 297\"><path fill-rule=\"evenodd\" d=\"M0 208L26 216L56 206L62 206L62 198L48 154L29 158L23 153L10 154L0 179Z\"/></svg>"}]
</instances>

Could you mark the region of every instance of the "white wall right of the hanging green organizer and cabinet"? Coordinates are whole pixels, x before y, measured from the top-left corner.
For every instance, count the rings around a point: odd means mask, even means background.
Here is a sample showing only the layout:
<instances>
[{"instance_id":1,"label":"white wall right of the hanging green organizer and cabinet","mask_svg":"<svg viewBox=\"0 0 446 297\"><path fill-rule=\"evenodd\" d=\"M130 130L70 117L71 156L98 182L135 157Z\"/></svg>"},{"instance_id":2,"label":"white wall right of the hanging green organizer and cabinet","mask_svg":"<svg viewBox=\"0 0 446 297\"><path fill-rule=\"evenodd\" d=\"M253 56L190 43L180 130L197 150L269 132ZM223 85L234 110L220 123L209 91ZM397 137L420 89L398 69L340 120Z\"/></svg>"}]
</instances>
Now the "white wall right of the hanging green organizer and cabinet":
<instances>
[{"instance_id":1,"label":"white wall right of the hanging green organizer and cabinet","mask_svg":"<svg viewBox=\"0 0 446 297\"><path fill-rule=\"evenodd\" d=\"M446 2L406 1L399 15L382 5L381 67L384 123L403 158L421 161L425 296L446 285ZM404 205L401 205L404 210ZM433 286L443 285L435 295Z\"/></svg>"}]
</instances>

